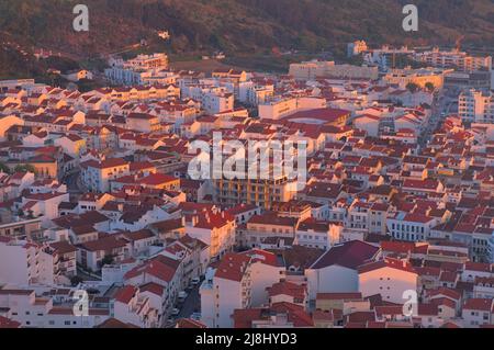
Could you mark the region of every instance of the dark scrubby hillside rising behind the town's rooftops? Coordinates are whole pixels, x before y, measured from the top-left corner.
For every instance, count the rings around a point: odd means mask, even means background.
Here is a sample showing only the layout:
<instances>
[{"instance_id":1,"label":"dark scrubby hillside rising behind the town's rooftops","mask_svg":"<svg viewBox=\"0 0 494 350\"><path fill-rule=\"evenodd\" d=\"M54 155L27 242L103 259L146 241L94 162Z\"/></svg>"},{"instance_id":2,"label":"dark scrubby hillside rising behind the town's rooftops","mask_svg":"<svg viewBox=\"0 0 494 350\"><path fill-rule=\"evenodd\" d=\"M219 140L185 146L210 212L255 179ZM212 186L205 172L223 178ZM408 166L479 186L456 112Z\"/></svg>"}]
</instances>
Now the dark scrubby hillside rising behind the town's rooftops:
<instances>
[{"instance_id":1,"label":"dark scrubby hillside rising behind the town's rooftops","mask_svg":"<svg viewBox=\"0 0 494 350\"><path fill-rule=\"evenodd\" d=\"M86 0L90 31L71 25L77 0L0 1L0 39L44 47L76 58L112 53L147 38L172 53L221 49L228 54L273 47L321 52L364 38L371 44L465 44L494 46L491 0ZM402 5L420 10L420 29L401 30ZM169 30L162 43L157 30ZM1 52L3 74L15 70ZM5 66L7 65L7 66ZM31 65L31 64L29 64Z\"/></svg>"}]
</instances>

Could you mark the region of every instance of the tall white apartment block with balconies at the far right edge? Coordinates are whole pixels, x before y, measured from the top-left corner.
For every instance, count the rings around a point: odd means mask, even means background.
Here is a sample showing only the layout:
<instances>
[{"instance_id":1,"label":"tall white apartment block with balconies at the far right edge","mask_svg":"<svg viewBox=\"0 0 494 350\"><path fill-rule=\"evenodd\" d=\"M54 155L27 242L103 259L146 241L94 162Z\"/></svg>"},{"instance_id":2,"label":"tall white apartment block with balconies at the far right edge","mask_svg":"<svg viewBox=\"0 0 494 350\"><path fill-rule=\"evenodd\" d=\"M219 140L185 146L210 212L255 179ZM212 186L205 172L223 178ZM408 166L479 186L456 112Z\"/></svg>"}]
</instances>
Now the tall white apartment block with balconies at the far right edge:
<instances>
[{"instance_id":1,"label":"tall white apartment block with balconies at the far right edge","mask_svg":"<svg viewBox=\"0 0 494 350\"><path fill-rule=\"evenodd\" d=\"M470 89L458 98L458 113L463 123L494 124L494 93Z\"/></svg>"}]
</instances>

